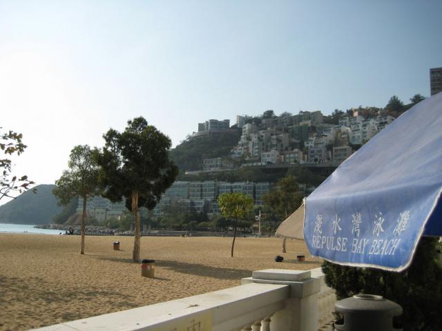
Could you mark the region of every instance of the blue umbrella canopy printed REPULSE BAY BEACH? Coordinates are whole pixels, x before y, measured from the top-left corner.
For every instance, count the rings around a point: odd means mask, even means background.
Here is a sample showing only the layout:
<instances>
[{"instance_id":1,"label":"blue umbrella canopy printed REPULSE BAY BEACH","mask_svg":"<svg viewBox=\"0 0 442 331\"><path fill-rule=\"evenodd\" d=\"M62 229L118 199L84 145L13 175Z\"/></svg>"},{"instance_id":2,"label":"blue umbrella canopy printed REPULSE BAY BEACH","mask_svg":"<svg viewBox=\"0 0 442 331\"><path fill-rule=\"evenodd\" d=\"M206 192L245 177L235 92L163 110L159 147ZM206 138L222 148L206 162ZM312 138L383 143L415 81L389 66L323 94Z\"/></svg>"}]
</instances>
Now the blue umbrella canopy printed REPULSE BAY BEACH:
<instances>
[{"instance_id":1,"label":"blue umbrella canopy printed REPULSE BAY BEACH","mask_svg":"<svg viewBox=\"0 0 442 331\"><path fill-rule=\"evenodd\" d=\"M442 234L442 93L376 134L306 199L312 255L401 271L423 234Z\"/></svg>"}]
</instances>

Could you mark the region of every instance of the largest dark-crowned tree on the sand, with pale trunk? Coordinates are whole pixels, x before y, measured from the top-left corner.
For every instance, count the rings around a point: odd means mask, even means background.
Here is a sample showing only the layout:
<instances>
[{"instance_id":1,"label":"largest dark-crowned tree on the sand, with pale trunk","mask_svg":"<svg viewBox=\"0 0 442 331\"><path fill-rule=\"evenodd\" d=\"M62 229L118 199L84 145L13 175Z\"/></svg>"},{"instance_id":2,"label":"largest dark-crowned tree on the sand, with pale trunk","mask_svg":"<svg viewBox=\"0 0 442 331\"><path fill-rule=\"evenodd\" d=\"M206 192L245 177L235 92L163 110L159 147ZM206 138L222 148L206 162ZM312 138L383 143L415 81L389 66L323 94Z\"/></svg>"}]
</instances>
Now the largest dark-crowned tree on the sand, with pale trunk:
<instances>
[{"instance_id":1,"label":"largest dark-crowned tree on the sand, with pale trunk","mask_svg":"<svg viewBox=\"0 0 442 331\"><path fill-rule=\"evenodd\" d=\"M178 168L169 159L172 144L169 137L149 126L143 117L127 123L124 132L110 129L104 134L106 143L96 158L102 195L113 202L126 199L126 207L133 213L133 261L136 262L140 260L141 237L138 208L153 210L162 193L175 181Z\"/></svg>"}]
</instances>

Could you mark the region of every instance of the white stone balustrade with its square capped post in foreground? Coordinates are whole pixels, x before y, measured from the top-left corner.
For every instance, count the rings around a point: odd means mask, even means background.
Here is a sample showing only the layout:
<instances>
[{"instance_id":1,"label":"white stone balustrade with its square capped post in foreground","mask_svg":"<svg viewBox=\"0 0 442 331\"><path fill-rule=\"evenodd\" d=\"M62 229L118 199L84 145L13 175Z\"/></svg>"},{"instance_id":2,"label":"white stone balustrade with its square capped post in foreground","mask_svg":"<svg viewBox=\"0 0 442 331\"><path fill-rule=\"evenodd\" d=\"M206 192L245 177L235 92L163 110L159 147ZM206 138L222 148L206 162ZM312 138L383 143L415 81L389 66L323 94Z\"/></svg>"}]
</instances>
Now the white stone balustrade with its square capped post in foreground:
<instances>
[{"instance_id":1,"label":"white stone balustrade with its square capped post in foreground","mask_svg":"<svg viewBox=\"0 0 442 331\"><path fill-rule=\"evenodd\" d=\"M235 288L39 330L316 331L329 321L334 297L323 277L320 270L260 270Z\"/></svg>"}]
</instances>

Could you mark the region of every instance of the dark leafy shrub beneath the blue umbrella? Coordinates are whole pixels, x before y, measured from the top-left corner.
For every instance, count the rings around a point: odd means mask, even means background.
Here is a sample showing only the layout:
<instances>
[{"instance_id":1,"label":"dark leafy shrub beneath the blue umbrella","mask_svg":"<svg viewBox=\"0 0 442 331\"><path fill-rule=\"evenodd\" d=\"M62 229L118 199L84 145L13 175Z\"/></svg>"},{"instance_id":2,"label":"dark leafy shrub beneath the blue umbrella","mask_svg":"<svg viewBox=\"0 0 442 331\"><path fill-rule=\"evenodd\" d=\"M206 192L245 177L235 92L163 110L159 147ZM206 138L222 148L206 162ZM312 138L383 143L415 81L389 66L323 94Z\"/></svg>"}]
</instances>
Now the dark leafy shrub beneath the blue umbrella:
<instances>
[{"instance_id":1,"label":"dark leafy shrub beneath the blue umbrella","mask_svg":"<svg viewBox=\"0 0 442 331\"><path fill-rule=\"evenodd\" d=\"M356 268L325 261L325 282L338 299L378 294L403 308L404 331L436 331L442 325L442 270L436 263L437 239L423 237L414 259L403 272Z\"/></svg>"}]
</instances>

